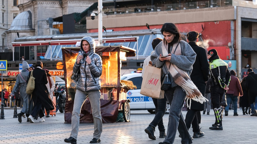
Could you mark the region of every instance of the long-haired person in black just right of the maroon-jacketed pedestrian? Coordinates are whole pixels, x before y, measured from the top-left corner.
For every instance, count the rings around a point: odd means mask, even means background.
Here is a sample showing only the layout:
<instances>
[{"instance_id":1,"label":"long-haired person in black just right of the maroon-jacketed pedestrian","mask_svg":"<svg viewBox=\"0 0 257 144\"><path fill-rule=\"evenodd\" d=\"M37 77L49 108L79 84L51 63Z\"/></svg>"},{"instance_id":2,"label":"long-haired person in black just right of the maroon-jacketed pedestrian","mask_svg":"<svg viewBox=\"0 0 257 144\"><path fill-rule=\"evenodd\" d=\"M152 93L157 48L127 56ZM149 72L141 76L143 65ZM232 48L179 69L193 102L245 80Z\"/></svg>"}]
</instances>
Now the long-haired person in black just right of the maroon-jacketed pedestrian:
<instances>
[{"instance_id":1,"label":"long-haired person in black just right of the maroon-jacketed pedestrian","mask_svg":"<svg viewBox=\"0 0 257 144\"><path fill-rule=\"evenodd\" d=\"M248 114L247 111L248 111L248 108L250 107L249 100L248 100L248 92L246 90L246 77L243 78L241 82L241 87L243 91L243 96L240 97L239 105L242 107L243 115L245 115L245 114Z\"/></svg>"}]
</instances>

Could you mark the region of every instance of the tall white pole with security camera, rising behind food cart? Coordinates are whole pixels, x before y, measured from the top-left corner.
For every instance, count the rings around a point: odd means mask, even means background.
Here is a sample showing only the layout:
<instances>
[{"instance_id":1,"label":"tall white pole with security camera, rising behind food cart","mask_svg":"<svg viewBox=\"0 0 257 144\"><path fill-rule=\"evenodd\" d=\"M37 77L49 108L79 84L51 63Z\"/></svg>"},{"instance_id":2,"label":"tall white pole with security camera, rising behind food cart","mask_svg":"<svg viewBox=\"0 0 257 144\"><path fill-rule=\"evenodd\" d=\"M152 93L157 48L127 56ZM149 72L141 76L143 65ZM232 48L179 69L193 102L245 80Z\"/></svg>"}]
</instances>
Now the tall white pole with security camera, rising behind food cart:
<instances>
[{"instance_id":1,"label":"tall white pole with security camera, rising behind food cart","mask_svg":"<svg viewBox=\"0 0 257 144\"><path fill-rule=\"evenodd\" d=\"M102 45L102 0L98 0L98 42Z\"/></svg>"}]
</instances>

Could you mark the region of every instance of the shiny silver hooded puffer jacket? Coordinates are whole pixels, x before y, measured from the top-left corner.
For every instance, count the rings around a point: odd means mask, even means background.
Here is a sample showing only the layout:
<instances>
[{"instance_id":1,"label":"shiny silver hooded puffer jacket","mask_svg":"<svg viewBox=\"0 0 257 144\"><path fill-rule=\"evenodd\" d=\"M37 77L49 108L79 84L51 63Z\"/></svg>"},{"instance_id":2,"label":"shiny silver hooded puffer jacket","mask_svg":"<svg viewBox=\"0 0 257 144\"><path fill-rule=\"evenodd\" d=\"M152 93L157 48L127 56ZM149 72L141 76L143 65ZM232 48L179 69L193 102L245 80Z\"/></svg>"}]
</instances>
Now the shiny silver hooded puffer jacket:
<instances>
[{"instance_id":1,"label":"shiny silver hooded puffer jacket","mask_svg":"<svg viewBox=\"0 0 257 144\"><path fill-rule=\"evenodd\" d=\"M80 69L80 79L78 80L76 89L89 92L101 89L100 76L102 75L102 59L95 53L96 43L95 40L90 36L85 36L80 41L80 51L84 54L82 48L82 41L86 40L90 45L90 51L87 53L89 58L92 60L90 64L85 62L83 64L77 64L75 62L73 66L73 72L75 73L77 69Z\"/></svg>"}]
</instances>

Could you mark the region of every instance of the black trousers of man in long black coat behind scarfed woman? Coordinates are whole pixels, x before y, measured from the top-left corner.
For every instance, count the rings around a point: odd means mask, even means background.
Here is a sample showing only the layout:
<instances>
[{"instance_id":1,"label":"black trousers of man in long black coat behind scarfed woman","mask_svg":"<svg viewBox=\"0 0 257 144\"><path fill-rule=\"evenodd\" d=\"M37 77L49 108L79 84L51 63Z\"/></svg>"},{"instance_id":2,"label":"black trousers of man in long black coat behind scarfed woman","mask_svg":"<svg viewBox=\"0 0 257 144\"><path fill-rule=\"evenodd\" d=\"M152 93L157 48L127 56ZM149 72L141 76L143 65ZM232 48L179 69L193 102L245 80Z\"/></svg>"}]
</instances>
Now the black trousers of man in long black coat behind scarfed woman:
<instances>
[{"instance_id":1,"label":"black trousers of man in long black coat behind scarfed woman","mask_svg":"<svg viewBox=\"0 0 257 144\"><path fill-rule=\"evenodd\" d=\"M186 118L185 118L185 123L187 126L187 130L191 127L193 128L194 133L200 132L200 126L198 123L198 116L197 116L198 110L193 110L193 109L188 109Z\"/></svg>"}]
</instances>

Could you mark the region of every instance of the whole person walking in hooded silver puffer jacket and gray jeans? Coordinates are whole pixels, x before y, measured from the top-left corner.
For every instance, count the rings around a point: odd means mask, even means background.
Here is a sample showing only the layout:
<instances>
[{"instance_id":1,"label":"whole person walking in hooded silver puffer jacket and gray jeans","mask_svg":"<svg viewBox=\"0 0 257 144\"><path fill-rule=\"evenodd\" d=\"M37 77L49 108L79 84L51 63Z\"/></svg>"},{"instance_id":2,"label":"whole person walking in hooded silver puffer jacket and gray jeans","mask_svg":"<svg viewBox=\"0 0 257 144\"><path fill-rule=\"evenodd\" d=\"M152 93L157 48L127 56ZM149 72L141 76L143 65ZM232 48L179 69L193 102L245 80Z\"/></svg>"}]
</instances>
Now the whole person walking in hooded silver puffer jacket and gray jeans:
<instances>
[{"instance_id":1,"label":"whole person walking in hooded silver puffer jacket and gray jeans","mask_svg":"<svg viewBox=\"0 0 257 144\"><path fill-rule=\"evenodd\" d=\"M96 43L92 37L85 36L81 39L80 50L83 55L77 56L77 60L73 66L74 73L80 70L80 78L76 86L77 90L71 117L71 134L68 139L64 139L64 141L68 143L76 143L77 141L81 107L87 97L90 100L94 119L94 133L90 143L101 142L102 116L100 112L100 76L102 75L102 60L101 57L95 53L95 47Z\"/></svg>"}]
</instances>

